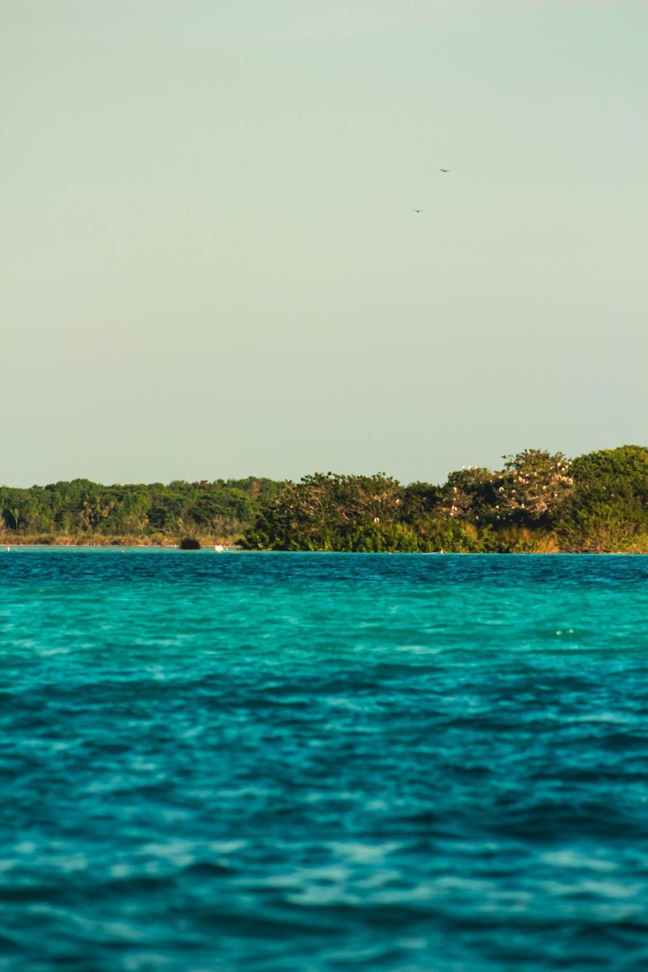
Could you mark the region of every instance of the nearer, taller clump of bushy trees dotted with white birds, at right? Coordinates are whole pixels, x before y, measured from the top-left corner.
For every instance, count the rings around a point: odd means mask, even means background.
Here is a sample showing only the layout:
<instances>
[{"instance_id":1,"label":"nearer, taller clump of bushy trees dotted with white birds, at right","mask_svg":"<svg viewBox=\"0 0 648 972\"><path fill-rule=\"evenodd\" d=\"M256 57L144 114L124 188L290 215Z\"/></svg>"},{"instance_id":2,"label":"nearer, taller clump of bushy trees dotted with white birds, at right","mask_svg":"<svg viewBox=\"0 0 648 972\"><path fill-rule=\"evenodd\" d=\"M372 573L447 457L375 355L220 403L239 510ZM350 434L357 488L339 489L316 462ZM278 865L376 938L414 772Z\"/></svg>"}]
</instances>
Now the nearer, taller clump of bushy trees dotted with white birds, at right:
<instances>
[{"instance_id":1,"label":"nearer, taller clump of bushy trees dotted with white birds, at right","mask_svg":"<svg viewBox=\"0 0 648 972\"><path fill-rule=\"evenodd\" d=\"M526 449L443 486L316 473L260 510L244 545L270 550L648 552L648 448L569 462Z\"/></svg>"}]
</instances>

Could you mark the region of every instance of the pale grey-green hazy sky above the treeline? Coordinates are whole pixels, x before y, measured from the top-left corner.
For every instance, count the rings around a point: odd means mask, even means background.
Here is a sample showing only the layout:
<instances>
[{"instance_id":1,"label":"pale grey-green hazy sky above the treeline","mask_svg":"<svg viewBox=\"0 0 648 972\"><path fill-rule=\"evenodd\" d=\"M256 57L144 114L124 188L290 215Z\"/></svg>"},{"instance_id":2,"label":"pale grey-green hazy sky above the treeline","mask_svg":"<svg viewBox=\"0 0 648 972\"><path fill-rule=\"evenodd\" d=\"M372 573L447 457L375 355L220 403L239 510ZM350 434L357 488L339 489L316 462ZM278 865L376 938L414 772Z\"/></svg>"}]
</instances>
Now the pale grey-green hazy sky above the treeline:
<instances>
[{"instance_id":1,"label":"pale grey-green hazy sky above the treeline","mask_svg":"<svg viewBox=\"0 0 648 972\"><path fill-rule=\"evenodd\" d=\"M648 444L647 33L644 0L0 0L0 482Z\"/></svg>"}]
</instances>

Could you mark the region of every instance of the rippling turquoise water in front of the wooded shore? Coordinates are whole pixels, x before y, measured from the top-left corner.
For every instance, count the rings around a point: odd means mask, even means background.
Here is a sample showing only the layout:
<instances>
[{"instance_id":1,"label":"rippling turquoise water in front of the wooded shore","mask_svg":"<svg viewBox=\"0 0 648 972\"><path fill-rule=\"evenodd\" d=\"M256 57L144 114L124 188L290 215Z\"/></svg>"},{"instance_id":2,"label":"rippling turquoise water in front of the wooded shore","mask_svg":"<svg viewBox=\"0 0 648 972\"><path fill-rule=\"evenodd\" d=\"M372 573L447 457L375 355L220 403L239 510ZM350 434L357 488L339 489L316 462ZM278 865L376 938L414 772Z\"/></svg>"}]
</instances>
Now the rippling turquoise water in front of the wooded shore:
<instances>
[{"instance_id":1,"label":"rippling turquoise water in front of the wooded shore","mask_svg":"<svg viewBox=\"0 0 648 972\"><path fill-rule=\"evenodd\" d=\"M0 552L0 969L648 968L648 558Z\"/></svg>"}]
</instances>

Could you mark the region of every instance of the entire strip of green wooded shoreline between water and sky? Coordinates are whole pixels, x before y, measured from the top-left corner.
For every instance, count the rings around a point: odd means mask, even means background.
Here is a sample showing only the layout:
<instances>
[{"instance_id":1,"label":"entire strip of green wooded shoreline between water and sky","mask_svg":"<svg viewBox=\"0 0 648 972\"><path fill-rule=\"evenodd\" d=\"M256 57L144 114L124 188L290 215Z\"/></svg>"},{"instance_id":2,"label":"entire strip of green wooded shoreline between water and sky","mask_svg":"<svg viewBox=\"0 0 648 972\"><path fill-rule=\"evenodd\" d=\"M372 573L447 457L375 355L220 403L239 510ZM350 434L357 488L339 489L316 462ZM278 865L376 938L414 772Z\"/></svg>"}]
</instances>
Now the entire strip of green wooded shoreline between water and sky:
<instances>
[{"instance_id":1,"label":"entire strip of green wooded shoreline between water and sky","mask_svg":"<svg viewBox=\"0 0 648 972\"><path fill-rule=\"evenodd\" d=\"M317 472L270 479L0 487L7 542L238 539L248 549L648 553L648 448L540 449L441 485Z\"/></svg>"}]
</instances>

